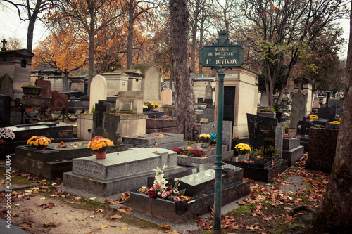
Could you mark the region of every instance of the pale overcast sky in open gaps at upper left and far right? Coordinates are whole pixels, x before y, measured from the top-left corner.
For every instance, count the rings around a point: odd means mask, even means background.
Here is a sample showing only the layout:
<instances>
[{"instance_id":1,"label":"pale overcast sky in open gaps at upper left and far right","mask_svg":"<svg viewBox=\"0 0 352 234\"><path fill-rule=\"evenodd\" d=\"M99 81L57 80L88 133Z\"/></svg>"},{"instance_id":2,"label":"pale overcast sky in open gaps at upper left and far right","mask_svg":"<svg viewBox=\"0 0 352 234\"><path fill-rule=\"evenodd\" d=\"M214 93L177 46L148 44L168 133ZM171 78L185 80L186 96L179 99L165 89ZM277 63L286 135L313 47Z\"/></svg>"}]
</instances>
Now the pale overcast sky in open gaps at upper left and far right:
<instances>
[{"instance_id":1,"label":"pale overcast sky in open gaps at upper left and far right","mask_svg":"<svg viewBox=\"0 0 352 234\"><path fill-rule=\"evenodd\" d=\"M23 48L27 44L27 26L28 22L23 22L18 19L18 14L14 7L11 8L0 8L0 37L2 39L8 39L10 37L19 37L22 40ZM341 26L344 29L344 39L346 44L344 44L340 58L347 58L347 47L348 47L348 35L349 35L349 20L340 20ZM38 43L45 39L46 29L43 27L42 23L37 21L34 27L34 38L33 38L33 48L35 48ZM1 44L2 47L2 44Z\"/></svg>"}]
</instances>

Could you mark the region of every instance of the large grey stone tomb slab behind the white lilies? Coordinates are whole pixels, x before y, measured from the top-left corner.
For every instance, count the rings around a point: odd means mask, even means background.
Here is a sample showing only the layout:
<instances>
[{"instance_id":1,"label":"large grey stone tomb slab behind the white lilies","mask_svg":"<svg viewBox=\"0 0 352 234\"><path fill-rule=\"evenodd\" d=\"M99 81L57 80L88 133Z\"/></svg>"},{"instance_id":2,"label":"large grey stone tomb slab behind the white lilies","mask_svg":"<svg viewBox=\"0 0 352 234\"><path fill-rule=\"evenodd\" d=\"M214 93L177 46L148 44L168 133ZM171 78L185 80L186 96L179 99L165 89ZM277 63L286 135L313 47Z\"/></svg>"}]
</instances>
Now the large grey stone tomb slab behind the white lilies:
<instances>
[{"instance_id":1,"label":"large grey stone tomb slab behind the white lilies","mask_svg":"<svg viewBox=\"0 0 352 234\"><path fill-rule=\"evenodd\" d=\"M180 169L176 152L163 148L132 148L108 153L106 159L82 157L73 160L71 172L65 172L66 188L108 196L146 185L146 178L155 175L156 167L167 165L167 171Z\"/></svg>"}]
</instances>

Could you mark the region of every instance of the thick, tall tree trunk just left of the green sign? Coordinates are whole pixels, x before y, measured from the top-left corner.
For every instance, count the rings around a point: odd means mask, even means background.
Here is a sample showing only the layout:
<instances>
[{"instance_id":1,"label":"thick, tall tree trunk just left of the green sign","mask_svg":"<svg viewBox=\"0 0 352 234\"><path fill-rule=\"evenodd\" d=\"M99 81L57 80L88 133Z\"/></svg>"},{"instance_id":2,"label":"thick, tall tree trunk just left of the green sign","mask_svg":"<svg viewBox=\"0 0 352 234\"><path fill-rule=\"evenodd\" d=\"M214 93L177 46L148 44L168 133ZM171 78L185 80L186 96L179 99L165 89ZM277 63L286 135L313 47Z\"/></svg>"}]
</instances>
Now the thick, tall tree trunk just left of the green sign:
<instances>
[{"instance_id":1,"label":"thick, tall tree trunk just left of the green sign","mask_svg":"<svg viewBox=\"0 0 352 234\"><path fill-rule=\"evenodd\" d=\"M196 113L189 76L189 12L186 0L170 0L172 71L175 79L175 115L184 138L196 141Z\"/></svg>"}]
</instances>

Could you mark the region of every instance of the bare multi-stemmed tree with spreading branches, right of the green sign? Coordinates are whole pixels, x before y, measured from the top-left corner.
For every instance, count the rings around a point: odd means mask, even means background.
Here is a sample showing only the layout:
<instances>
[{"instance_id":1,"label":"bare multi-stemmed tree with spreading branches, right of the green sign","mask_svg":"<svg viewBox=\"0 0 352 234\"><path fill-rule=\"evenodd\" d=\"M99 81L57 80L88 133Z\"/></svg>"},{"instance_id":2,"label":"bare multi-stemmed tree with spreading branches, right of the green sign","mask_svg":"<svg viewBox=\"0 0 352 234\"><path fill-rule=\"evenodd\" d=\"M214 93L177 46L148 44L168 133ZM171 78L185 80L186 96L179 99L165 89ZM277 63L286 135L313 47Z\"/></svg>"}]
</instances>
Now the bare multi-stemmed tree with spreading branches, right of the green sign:
<instances>
[{"instance_id":1,"label":"bare multi-stemmed tree with spreading branches, right of the green sign","mask_svg":"<svg viewBox=\"0 0 352 234\"><path fill-rule=\"evenodd\" d=\"M287 67L284 82L287 84L292 68L303 53L309 52L315 37L328 25L334 25L334 20L348 13L347 2L244 0L239 3L243 16L239 32L260 53L270 108L273 105L272 90L282 65ZM282 97L284 87L278 100Z\"/></svg>"}]
</instances>

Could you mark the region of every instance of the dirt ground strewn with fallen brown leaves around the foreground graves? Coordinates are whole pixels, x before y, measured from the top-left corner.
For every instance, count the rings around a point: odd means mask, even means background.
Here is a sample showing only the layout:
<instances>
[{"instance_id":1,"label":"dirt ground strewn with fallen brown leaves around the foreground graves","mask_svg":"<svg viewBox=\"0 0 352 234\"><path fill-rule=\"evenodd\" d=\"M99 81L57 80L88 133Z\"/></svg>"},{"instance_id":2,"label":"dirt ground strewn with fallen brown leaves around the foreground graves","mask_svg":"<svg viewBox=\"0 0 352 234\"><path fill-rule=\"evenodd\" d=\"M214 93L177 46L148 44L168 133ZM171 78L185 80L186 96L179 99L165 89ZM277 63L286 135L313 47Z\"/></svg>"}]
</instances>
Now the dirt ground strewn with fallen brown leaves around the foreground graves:
<instances>
[{"instance_id":1,"label":"dirt ground strewn with fallen brown leaves around the foreground graves","mask_svg":"<svg viewBox=\"0 0 352 234\"><path fill-rule=\"evenodd\" d=\"M1 169L1 168L0 168ZM124 207L123 200L98 202L61 190L60 181L45 181L23 171L12 171L11 224L27 233L210 233L212 215L188 225L168 221L146 221ZM4 190L4 168L0 171L0 191ZM29 179L30 178L30 179ZM325 194L328 176L304 170L304 160L277 176L272 183L251 181L251 194L227 205L222 217L222 233L293 233L308 225L307 210L292 216L294 207L317 209ZM1 218L6 214L6 193L0 193ZM89 199L92 198L92 199ZM118 204L122 202L121 204ZM152 220L152 219L151 219ZM158 224L156 224L158 223ZM168 226L170 225L170 226Z\"/></svg>"}]
</instances>

